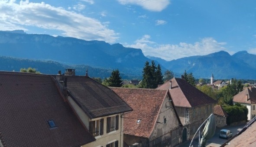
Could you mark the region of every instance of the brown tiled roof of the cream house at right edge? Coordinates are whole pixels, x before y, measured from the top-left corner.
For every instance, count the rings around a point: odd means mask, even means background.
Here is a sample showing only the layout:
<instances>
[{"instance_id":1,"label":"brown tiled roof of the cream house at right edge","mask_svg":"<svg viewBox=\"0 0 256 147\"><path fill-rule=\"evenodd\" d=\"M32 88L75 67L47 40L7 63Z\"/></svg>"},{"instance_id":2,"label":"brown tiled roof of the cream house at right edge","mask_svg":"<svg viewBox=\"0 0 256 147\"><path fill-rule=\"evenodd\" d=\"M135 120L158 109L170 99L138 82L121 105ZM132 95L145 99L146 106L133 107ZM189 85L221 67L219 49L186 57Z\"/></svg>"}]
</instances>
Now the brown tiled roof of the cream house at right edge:
<instances>
[{"instance_id":1,"label":"brown tiled roof of the cream house at right edge","mask_svg":"<svg viewBox=\"0 0 256 147\"><path fill-rule=\"evenodd\" d=\"M246 100L246 95L248 95L248 100ZM243 91L233 96L233 102L256 104L256 89L252 88L252 91L248 87L243 89Z\"/></svg>"}]
</instances>

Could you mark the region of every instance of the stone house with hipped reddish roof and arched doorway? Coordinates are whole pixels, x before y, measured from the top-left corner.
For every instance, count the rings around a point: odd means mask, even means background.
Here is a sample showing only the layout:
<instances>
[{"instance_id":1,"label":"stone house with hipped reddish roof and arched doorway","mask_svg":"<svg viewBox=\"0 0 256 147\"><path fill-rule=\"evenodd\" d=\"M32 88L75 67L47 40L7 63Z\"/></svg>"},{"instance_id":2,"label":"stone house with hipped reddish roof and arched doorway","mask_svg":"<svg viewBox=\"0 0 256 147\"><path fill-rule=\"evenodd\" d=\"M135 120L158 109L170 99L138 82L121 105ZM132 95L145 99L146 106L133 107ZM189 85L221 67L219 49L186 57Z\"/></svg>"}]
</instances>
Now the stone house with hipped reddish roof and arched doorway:
<instances>
[{"instance_id":1,"label":"stone house with hipped reddish roof and arched doorway","mask_svg":"<svg viewBox=\"0 0 256 147\"><path fill-rule=\"evenodd\" d=\"M192 139L199 126L213 113L216 100L180 78L173 78L157 89L169 89L175 110L183 125L182 142Z\"/></svg>"}]
</instances>

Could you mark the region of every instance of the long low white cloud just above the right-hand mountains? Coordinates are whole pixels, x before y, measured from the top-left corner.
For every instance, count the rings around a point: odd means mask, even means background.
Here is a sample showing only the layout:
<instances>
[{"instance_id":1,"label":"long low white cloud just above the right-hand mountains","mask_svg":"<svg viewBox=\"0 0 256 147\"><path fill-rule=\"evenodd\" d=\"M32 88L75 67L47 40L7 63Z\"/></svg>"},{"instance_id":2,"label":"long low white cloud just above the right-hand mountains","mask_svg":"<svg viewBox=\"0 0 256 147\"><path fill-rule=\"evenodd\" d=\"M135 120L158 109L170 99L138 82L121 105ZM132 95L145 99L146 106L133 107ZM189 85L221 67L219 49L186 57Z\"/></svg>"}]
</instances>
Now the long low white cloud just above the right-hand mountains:
<instances>
[{"instance_id":1,"label":"long low white cloud just above the right-hand mountains","mask_svg":"<svg viewBox=\"0 0 256 147\"><path fill-rule=\"evenodd\" d=\"M214 38L203 38L200 42L194 44L181 42L178 45L159 45L149 39L150 35L144 35L141 39L136 40L135 44L124 46L140 48L145 56L159 57L167 61L195 55L206 55L217 51L227 51L224 47L226 43L217 42Z\"/></svg>"}]
</instances>

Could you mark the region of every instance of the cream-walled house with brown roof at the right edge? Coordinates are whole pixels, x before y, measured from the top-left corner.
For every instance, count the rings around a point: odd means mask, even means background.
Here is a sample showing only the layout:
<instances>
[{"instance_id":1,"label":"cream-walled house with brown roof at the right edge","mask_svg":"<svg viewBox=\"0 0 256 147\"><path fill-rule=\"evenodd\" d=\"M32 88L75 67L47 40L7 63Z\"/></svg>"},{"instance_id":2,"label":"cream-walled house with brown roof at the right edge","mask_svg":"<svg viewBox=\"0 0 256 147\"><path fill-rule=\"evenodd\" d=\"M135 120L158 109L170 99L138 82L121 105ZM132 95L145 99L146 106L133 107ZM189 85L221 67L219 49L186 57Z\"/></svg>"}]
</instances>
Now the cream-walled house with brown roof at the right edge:
<instances>
[{"instance_id":1,"label":"cream-walled house with brown roof at the right edge","mask_svg":"<svg viewBox=\"0 0 256 147\"><path fill-rule=\"evenodd\" d=\"M248 109L248 121L256 116L256 88L254 87L246 87L233 96L233 103L240 103L241 105L245 105Z\"/></svg>"}]
</instances>

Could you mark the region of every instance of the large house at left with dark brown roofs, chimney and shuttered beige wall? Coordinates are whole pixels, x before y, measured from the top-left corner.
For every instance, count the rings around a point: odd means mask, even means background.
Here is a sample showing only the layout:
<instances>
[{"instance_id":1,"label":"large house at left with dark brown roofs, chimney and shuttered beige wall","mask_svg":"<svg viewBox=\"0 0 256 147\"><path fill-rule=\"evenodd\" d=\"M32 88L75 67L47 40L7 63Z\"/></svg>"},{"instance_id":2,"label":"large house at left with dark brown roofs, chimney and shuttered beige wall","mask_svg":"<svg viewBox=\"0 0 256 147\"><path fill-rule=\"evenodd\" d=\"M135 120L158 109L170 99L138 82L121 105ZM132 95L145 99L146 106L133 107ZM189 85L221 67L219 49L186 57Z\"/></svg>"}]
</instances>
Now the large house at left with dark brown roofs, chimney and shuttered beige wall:
<instances>
[{"instance_id":1,"label":"large house at left with dark brown roofs, chimney and shuttered beige wall","mask_svg":"<svg viewBox=\"0 0 256 147\"><path fill-rule=\"evenodd\" d=\"M0 146L123 147L122 115L132 109L75 70L0 72L0 93Z\"/></svg>"}]
</instances>

